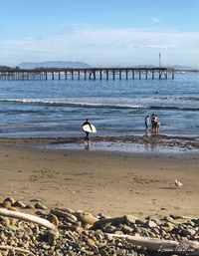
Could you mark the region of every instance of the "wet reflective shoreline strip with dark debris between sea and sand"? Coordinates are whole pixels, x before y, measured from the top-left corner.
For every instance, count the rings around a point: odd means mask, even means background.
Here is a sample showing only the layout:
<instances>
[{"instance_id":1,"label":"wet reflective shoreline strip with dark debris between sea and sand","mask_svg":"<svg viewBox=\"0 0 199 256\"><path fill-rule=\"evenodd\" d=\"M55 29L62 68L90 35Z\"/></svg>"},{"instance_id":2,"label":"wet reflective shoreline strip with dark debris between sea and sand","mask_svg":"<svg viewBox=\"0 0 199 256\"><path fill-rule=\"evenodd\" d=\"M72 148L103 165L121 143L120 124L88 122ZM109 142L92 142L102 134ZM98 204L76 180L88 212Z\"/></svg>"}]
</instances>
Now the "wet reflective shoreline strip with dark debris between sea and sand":
<instances>
[{"instance_id":1,"label":"wet reflective shoreline strip with dark debris between sea and sand","mask_svg":"<svg viewBox=\"0 0 199 256\"><path fill-rule=\"evenodd\" d=\"M84 146L82 136L59 136L59 137L0 137L0 143L17 142L30 144L48 145L48 149L83 150L91 149ZM90 145L94 151L109 152L157 152L157 153L197 153L199 152L199 140L192 137L168 136L161 134L152 135L122 135L122 136L91 136Z\"/></svg>"}]
</instances>

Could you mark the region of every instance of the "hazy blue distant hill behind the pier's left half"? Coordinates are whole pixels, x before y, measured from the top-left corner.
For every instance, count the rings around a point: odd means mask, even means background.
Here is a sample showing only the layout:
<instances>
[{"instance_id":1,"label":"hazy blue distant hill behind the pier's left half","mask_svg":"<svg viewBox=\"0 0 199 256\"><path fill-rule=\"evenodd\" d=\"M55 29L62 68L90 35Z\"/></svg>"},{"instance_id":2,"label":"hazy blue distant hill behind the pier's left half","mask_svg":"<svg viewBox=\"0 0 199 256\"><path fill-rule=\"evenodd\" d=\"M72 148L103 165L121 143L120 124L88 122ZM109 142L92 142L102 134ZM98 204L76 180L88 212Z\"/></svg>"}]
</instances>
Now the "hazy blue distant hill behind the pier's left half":
<instances>
[{"instance_id":1,"label":"hazy blue distant hill behind the pier's left half","mask_svg":"<svg viewBox=\"0 0 199 256\"><path fill-rule=\"evenodd\" d=\"M91 66L84 62L64 62L64 61L49 61L49 62L24 62L18 65L20 69L36 69L36 68L90 68Z\"/></svg>"}]
</instances>

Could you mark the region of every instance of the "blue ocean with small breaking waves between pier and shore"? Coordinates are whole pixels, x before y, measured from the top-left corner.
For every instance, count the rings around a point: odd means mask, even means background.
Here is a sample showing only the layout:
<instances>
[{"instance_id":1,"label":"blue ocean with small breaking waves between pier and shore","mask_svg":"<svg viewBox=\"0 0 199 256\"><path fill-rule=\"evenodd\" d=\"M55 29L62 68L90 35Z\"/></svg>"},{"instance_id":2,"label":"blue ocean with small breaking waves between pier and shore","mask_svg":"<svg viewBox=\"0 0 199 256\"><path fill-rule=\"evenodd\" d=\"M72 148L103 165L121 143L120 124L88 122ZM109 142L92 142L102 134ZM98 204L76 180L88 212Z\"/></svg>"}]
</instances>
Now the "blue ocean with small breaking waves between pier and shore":
<instances>
[{"instance_id":1,"label":"blue ocean with small breaking waves between pier and shore","mask_svg":"<svg viewBox=\"0 0 199 256\"><path fill-rule=\"evenodd\" d=\"M142 135L146 115L161 134L199 138L199 74L168 80L0 81L0 137Z\"/></svg>"}]
</instances>

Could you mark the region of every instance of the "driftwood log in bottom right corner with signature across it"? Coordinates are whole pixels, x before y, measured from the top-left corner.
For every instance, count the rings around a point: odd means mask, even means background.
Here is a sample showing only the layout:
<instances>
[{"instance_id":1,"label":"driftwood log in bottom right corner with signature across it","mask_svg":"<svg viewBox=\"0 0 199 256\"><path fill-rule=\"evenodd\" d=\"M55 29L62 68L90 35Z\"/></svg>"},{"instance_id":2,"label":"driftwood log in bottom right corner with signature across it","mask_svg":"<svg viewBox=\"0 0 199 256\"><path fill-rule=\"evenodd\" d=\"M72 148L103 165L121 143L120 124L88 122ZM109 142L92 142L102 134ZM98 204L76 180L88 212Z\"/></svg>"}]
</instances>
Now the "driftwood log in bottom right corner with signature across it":
<instances>
[{"instance_id":1,"label":"driftwood log in bottom right corner with signature across it","mask_svg":"<svg viewBox=\"0 0 199 256\"><path fill-rule=\"evenodd\" d=\"M126 238L134 245L144 247L150 251L156 251L159 253L176 253L178 255L199 255L199 242L183 240L172 241L158 238L148 238L141 236L131 235L116 235L107 234L108 237Z\"/></svg>"}]
</instances>

